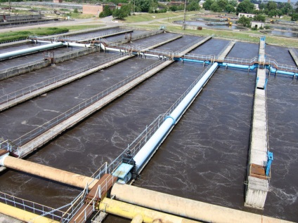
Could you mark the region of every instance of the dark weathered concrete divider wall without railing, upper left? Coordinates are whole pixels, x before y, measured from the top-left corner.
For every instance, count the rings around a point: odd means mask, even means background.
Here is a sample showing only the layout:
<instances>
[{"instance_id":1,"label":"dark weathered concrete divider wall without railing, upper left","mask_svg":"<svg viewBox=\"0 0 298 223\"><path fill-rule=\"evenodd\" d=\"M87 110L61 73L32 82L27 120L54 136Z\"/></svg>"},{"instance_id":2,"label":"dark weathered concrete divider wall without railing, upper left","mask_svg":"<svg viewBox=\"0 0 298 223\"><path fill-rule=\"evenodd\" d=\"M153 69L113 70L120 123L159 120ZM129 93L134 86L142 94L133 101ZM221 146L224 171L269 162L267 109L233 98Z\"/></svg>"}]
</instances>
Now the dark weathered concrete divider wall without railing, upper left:
<instances>
[{"instance_id":1,"label":"dark weathered concrete divider wall without railing, upper left","mask_svg":"<svg viewBox=\"0 0 298 223\"><path fill-rule=\"evenodd\" d=\"M99 48L94 47L94 48L85 48L84 50L76 50L76 51L70 52L70 53L65 53L63 55L58 55L55 58L55 63L72 60L74 58L78 58L83 55L87 55L90 53L96 53L98 51L99 51ZM11 69L11 70L4 69L4 70L0 71L0 81L4 80L4 79L11 78L13 76L18 76L20 74L26 74L26 73L32 72L34 70L41 69L43 67L47 67L49 65L51 65L51 60L37 60L36 63L30 63L29 65L24 65L23 67L18 67L16 69Z\"/></svg>"}]
</instances>

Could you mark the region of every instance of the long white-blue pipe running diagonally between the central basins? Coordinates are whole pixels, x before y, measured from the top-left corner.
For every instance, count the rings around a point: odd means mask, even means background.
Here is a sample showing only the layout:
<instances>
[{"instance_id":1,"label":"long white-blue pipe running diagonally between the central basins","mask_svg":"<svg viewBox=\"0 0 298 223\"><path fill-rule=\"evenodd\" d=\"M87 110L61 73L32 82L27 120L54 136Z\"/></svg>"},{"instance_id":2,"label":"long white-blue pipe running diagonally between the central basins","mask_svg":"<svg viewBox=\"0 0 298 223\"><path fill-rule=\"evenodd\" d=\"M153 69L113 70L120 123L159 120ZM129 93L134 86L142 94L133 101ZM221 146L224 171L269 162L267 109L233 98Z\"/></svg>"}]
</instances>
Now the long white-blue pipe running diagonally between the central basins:
<instances>
[{"instance_id":1,"label":"long white-blue pipe running diagonally between the central basins","mask_svg":"<svg viewBox=\"0 0 298 223\"><path fill-rule=\"evenodd\" d=\"M138 151L136 156L134 156L134 161L136 161L136 170L139 170L142 165L144 165L145 161L147 161L150 154L153 153L154 149L157 147L157 145L162 141L165 135L169 132L170 128L174 126L177 119L183 114L185 109L189 106L189 104L193 101L194 97L197 95L197 93L200 92L203 86L205 86L205 83L207 83L208 79L216 68L218 67L217 62L210 67L210 69L202 76L200 81L197 82L197 84L193 87L192 90L184 97L184 99L180 102L180 104L174 109L173 112L167 118L164 120L160 128L156 130L156 132L153 134L152 137L150 137L150 140L145 143L145 145Z\"/></svg>"}]
</instances>

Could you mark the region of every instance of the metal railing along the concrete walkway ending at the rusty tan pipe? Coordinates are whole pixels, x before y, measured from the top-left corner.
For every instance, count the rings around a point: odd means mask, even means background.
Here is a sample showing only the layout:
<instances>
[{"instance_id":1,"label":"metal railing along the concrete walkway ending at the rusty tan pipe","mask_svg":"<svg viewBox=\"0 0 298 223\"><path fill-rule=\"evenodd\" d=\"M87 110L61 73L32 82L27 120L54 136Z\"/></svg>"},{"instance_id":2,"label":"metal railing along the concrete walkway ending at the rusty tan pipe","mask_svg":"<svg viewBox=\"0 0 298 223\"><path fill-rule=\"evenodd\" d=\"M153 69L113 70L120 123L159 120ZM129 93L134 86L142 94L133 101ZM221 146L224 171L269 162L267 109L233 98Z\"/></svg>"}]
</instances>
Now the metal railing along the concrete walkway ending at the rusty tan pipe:
<instances>
[{"instance_id":1,"label":"metal railing along the concrete walkway ending at the rusty tan pipe","mask_svg":"<svg viewBox=\"0 0 298 223\"><path fill-rule=\"evenodd\" d=\"M89 99L85 100L84 102L78 104L75 107L72 107L72 109L67 110L63 114L60 114L59 116L56 116L56 118L51 119L50 121L47 121L43 125L35 128L34 130L30 131L29 133L26 133L25 135L22 135L16 140L13 140L11 142L11 147L4 146L5 149L9 151L13 151L18 156L21 156L20 152L18 151L18 147L22 146L26 142L29 142L30 140L33 140L34 137L37 137L38 135L41 135L42 133L46 132L46 130L49 130L50 128L53 128L53 126L58 125L58 123L61 123L62 121L65 121L66 119L70 118L74 114L77 114L78 112L82 111L86 107L89 107L91 104L98 102L98 100L101 100L106 95L112 93L113 91L117 90L118 88L121 88L122 86L126 85L130 81L133 81L134 79L138 78L138 76L141 76L145 74L146 72L150 71L151 69L157 67L164 61L157 61L153 65L150 65L148 67L145 67L144 69L141 69L141 71L137 72L136 74L133 74L126 79L116 83L115 85L111 86L110 88L107 88L103 90L101 93L98 93L97 95L94 95L93 97L90 97Z\"/></svg>"}]
</instances>

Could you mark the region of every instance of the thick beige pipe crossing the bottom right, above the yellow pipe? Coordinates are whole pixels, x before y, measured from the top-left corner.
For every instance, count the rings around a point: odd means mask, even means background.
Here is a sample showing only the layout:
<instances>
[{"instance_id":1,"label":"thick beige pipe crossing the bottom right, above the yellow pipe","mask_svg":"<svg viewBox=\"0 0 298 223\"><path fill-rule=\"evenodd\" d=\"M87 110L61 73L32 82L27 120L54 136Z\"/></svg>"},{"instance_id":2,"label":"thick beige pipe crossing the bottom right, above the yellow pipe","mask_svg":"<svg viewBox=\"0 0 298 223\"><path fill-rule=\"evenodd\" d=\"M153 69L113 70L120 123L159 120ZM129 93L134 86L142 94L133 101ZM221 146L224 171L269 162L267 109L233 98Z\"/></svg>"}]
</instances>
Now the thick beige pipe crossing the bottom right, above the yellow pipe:
<instances>
[{"instance_id":1,"label":"thick beige pipe crossing the bottom right, above the yellow pipe","mask_svg":"<svg viewBox=\"0 0 298 223\"><path fill-rule=\"evenodd\" d=\"M231 208L212 205L200 201L193 201L179 196L163 194L157 191L151 191L140 187L134 187L127 184L115 183L112 187L111 196L119 201L133 203L145 208L160 210L162 212L171 213L196 219L203 222L218 223L285 223L283 219L266 217L250 212L235 210Z\"/></svg>"}]
</instances>

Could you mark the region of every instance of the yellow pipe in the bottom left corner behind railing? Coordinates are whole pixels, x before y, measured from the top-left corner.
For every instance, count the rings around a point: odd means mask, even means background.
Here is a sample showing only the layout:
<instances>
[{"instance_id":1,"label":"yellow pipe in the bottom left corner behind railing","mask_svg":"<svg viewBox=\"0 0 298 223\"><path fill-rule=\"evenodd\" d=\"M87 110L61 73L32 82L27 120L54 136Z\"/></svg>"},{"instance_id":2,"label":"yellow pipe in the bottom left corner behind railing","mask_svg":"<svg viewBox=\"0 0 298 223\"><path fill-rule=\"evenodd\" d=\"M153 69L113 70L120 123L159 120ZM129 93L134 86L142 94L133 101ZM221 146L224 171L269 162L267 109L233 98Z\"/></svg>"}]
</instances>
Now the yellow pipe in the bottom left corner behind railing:
<instances>
[{"instance_id":1,"label":"yellow pipe in the bottom left corner behind railing","mask_svg":"<svg viewBox=\"0 0 298 223\"><path fill-rule=\"evenodd\" d=\"M41 217L39 215L35 215L31 212L27 212L20 208L15 208L11 205L6 205L5 203L0 203L0 212L4 215L14 217L16 219L20 219L24 222L32 222L32 223L59 223L58 221L49 219L47 217Z\"/></svg>"}]
</instances>

